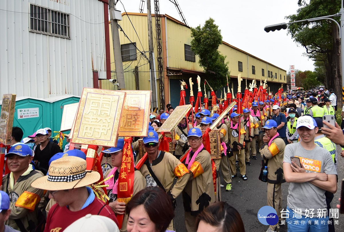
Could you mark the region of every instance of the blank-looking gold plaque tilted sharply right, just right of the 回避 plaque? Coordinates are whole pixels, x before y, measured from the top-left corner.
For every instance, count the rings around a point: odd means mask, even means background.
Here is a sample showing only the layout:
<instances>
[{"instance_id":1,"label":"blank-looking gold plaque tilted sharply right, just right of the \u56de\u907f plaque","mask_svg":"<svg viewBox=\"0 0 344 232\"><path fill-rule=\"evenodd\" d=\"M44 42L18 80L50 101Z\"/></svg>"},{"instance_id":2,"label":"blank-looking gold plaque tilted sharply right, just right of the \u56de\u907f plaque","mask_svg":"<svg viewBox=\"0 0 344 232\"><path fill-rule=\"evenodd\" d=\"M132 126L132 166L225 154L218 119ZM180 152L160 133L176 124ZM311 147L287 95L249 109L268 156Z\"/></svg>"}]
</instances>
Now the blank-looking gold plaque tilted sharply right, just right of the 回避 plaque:
<instances>
[{"instance_id":1,"label":"blank-looking gold plaque tilted sharply right, just right of the \u56de\u907f plaque","mask_svg":"<svg viewBox=\"0 0 344 232\"><path fill-rule=\"evenodd\" d=\"M159 132L171 133L172 131L174 131L174 128L176 126L178 126L180 121L187 114L187 112L190 111L191 108L192 108L192 105L190 105L190 104L175 107L172 114L166 119L164 124L162 124L162 126L159 128L159 130L157 132L158 133Z\"/></svg>"}]
</instances>

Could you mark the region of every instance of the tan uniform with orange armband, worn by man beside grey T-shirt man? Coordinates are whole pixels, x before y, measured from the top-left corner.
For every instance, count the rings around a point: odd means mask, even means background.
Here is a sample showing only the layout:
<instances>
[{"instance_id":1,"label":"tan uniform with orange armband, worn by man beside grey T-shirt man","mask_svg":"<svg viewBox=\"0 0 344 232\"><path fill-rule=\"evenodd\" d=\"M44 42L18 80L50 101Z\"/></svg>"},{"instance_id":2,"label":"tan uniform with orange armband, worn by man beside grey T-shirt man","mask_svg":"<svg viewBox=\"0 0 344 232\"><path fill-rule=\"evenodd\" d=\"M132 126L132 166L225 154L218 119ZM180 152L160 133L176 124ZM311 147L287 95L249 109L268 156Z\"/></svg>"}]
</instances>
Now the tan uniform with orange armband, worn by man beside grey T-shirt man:
<instances>
[{"instance_id":1,"label":"tan uniform with orange armband, worn by man beside grey T-shirt man","mask_svg":"<svg viewBox=\"0 0 344 232\"><path fill-rule=\"evenodd\" d=\"M270 120L267 123L270 123ZM277 127L277 124L276 124ZM282 188L281 184L286 182L283 177L283 155L286 144L281 137L272 137L269 143L264 143L259 149L264 163L268 166L268 190L267 205L273 207L281 220L282 211ZM279 224L270 225L272 231L279 231Z\"/></svg>"}]
</instances>

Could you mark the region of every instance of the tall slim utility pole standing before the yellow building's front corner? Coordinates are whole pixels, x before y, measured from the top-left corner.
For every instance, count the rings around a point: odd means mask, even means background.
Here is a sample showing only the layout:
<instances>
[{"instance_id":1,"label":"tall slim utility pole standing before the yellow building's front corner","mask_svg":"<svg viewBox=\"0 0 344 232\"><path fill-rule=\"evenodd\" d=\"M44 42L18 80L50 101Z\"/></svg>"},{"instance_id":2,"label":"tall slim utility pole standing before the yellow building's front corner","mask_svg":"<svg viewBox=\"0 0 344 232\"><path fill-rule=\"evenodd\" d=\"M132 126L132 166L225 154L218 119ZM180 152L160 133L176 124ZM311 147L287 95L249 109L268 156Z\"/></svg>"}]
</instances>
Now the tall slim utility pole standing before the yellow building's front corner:
<instances>
[{"instance_id":1,"label":"tall slim utility pole standing before the yellow building's front corner","mask_svg":"<svg viewBox=\"0 0 344 232\"><path fill-rule=\"evenodd\" d=\"M157 79L155 78L154 61L153 61L153 29L152 29L152 12L150 0L147 0L147 21L148 21L148 48L149 48L149 69L150 69L150 82L152 90L152 109L158 106L157 92L155 91L155 85ZM161 93L160 93L161 94Z\"/></svg>"}]
</instances>

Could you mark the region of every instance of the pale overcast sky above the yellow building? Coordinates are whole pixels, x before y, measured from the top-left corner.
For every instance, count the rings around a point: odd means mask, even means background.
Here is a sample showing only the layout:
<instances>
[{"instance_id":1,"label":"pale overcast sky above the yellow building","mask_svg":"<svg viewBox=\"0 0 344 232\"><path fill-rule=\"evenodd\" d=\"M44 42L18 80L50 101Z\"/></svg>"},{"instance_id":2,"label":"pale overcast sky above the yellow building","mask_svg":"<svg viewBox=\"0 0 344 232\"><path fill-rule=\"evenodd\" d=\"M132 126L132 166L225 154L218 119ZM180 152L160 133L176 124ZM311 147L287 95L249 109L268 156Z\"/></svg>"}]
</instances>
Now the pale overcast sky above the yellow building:
<instances>
[{"instance_id":1,"label":"pale overcast sky above the yellow building","mask_svg":"<svg viewBox=\"0 0 344 232\"><path fill-rule=\"evenodd\" d=\"M139 12L141 0L121 0L127 12ZM151 0L154 12L154 0ZM168 14L181 20L174 4L159 0L160 14ZM267 25L287 22L285 16L295 14L297 0L178 0L179 6L191 27L203 25L209 17L219 26L223 40L247 53L257 56L282 69L289 65L301 71L314 70L305 48L296 44L287 30L266 33ZM124 12L120 2L116 8ZM144 13L147 13L147 0Z\"/></svg>"}]
</instances>

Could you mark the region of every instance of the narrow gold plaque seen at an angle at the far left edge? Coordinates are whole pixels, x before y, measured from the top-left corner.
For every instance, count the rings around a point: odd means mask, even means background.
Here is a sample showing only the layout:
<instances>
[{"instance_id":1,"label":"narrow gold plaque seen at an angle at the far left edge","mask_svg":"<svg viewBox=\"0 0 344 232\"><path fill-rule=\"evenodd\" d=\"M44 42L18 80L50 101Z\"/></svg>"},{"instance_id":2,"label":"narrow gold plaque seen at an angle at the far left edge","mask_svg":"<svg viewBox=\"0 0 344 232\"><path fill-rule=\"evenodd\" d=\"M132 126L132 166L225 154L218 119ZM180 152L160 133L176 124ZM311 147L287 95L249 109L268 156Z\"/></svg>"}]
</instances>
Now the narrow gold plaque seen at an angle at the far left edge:
<instances>
[{"instance_id":1,"label":"narrow gold plaque seen at an angle at the far left edge","mask_svg":"<svg viewBox=\"0 0 344 232\"><path fill-rule=\"evenodd\" d=\"M4 94L0 113L0 143L11 144L16 94Z\"/></svg>"}]
</instances>

